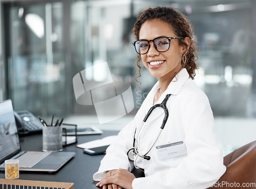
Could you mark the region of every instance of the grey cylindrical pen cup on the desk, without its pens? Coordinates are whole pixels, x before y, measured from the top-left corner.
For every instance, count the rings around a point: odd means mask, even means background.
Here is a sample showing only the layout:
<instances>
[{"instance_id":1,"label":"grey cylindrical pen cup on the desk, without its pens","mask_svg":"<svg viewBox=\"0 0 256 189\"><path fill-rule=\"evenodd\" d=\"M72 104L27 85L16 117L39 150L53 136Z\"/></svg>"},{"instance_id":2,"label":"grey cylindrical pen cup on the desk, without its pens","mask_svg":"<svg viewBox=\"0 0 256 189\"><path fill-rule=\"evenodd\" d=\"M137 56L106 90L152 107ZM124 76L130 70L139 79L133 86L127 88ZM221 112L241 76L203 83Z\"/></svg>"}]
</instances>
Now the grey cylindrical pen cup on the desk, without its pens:
<instances>
[{"instance_id":1,"label":"grey cylindrical pen cup on the desk, without its pens","mask_svg":"<svg viewBox=\"0 0 256 189\"><path fill-rule=\"evenodd\" d=\"M62 126L42 127L42 151L62 151Z\"/></svg>"}]
</instances>

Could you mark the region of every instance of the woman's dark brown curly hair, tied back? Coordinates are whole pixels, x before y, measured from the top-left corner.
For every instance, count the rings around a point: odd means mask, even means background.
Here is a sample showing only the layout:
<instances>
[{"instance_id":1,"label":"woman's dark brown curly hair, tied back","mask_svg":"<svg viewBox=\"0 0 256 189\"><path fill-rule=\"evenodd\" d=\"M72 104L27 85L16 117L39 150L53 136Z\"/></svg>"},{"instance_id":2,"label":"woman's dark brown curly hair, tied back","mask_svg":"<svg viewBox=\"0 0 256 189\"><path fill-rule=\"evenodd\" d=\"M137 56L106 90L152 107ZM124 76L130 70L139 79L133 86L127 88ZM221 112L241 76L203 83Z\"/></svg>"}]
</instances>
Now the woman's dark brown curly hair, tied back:
<instances>
[{"instance_id":1,"label":"woman's dark brown curly hair, tied back","mask_svg":"<svg viewBox=\"0 0 256 189\"><path fill-rule=\"evenodd\" d=\"M196 69L198 68L196 64L197 60L197 44L196 39L193 35L193 26L189 23L186 16L181 12L173 9L172 7L156 7L156 8L148 8L140 13L137 17L137 21L135 22L134 28L132 30L134 37L136 40L139 40L139 33L142 24L147 20L159 19L162 20L172 26L175 34L179 37L188 37L190 39L190 46L189 49L185 53L185 61L181 61L182 68L186 68L189 77L194 79L196 73ZM179 39L179 44L184 45L187 47L187 44L183 41L183 39ZM141 57L140 55L137 56L137 66L139 70L137 73L139 76L136 77L136 81L138 82L137 78L141 76L141 65L140 65ZM138 82L140 83L140 82Z\"/></svg>"}]
</instances>

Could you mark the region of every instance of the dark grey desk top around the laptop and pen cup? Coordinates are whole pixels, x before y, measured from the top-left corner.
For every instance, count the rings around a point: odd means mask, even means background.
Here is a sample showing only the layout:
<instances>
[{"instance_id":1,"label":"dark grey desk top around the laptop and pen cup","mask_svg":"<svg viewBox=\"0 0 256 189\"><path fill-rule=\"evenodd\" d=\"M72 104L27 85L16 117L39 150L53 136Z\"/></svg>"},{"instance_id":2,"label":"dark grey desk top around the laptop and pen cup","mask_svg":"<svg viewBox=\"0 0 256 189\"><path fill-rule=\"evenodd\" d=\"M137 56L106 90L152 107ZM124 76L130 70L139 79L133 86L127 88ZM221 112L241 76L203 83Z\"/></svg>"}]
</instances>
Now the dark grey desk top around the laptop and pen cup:
<instances>
[{"instance_id":1,"label":"dark grey desk top around the laptop and pen cup","mask_svg":"<svg viewBox=\"0 0 256 189\"><path fill-rule=\"evenodd\" d=\"M95 134L88 136L78 136L78 143L85 143L96 139L102 139L106 136L117 134L118 131L103 131L103 134ZM31 136L20 137L20 146L23 151L41 151L42 136L34 134ZM56 182L74 182L74 188L90 189L98 188L93 181L93 174L98 171L100 160L104 155L88 155L83 153L81 148L77 148L76 144L63 147L63 151L76 152L65 166L55 173L49 172L19 172L19 179L23 180L41 180ZM0 178L5 178L4 171L0 171Z\"/></svg>"}]
</instances>

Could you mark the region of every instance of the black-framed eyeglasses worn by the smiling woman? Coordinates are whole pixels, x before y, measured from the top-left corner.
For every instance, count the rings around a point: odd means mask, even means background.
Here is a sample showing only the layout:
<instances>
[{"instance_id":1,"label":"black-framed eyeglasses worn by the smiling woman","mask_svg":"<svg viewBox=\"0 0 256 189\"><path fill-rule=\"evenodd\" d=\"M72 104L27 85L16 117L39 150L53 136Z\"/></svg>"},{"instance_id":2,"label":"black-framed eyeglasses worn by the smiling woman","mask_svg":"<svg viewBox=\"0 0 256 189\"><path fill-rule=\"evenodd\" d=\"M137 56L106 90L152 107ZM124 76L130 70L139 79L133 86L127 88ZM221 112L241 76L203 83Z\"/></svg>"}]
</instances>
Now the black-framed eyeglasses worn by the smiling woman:
<instances>
[{"instance_id":1,"label":"black-framed eyeglasses worn by the smiling woman","mask_svg":"<svg viewBox=\"0 0 256 189\"><path fill-rule=\"evenodd\" d=\"M170 40L183 39L183 37L157 37L153 40L141 39L134 41L132 44L139 55L144 55L150 49L150 42L152 41L154 47L159 52L165 52L170 48Z\"/></svg>"}]
</instances>

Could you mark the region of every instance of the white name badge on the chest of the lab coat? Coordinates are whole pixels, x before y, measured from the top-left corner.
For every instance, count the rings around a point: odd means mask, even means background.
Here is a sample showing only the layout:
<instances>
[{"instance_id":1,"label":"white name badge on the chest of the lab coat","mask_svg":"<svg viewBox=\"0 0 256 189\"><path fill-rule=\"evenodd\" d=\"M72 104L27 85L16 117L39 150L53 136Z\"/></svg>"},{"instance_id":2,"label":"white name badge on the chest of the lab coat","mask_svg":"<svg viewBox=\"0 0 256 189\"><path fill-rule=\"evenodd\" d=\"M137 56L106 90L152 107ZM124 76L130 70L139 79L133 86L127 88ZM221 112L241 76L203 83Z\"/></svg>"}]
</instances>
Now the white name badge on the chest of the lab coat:
<instances>
[{"instance_id":1,"label":"white name badge on the chest of the lab coat","mask_svg":"<svg viewBox=\"0 0 256 189\"><path fill-rule=\"evenodd\" d=\"M186 145L183 141L156 146L158 158L163 160L187 154Z\"/></svg>"}]
</instances>

